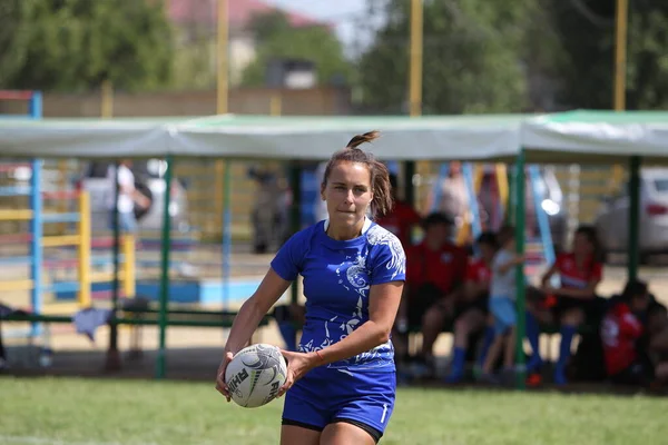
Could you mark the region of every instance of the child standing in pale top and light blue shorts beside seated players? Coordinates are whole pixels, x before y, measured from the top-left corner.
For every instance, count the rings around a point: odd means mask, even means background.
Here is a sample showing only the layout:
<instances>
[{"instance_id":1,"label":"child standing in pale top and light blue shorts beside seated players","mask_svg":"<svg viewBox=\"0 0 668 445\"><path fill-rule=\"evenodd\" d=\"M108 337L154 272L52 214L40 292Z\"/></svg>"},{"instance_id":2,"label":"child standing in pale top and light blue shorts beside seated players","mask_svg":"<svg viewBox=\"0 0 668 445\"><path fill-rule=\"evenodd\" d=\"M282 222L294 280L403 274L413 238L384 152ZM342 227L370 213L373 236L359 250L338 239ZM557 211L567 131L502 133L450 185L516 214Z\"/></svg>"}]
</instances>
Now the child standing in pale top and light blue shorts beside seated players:
<instances>
[{"instance_id":1,"label":"child standing in pale top and light blue shorts beside seated players","mask_svg":"<svg viewBox=\"0 0 668 445\"><path fill-rule=\"evenodd\" d=\"M514 253L514 228L505 226L499 230L501 248L492 261L492 279L490 285L490 315L494 318L494 342L482 365L482 379L495 382L492 377L493 366L499 354L504 352L504 372L512 372L514 366L515 344L515 274L514 267L524 263L522 256Z\"/></svg>"}]
</instances>

